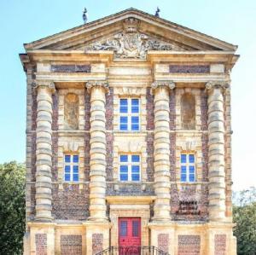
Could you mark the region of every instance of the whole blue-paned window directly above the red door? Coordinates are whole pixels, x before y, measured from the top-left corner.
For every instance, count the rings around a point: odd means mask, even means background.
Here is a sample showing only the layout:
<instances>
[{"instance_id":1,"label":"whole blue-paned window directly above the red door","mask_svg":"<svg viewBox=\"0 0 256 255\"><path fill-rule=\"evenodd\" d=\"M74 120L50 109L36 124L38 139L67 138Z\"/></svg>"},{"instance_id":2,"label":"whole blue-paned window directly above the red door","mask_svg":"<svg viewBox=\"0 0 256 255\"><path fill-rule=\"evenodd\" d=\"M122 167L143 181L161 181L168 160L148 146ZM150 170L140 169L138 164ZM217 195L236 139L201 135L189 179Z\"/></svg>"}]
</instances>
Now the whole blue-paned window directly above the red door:
<instances>
[{"instance_id":1,"label":"whole blue-paned window directly above the red door","mask_svg":"<svg viewBox=\"0 0 256 255\"><path fill-rule=\"evenodd\" d=\"M119 155L119 180L139 182L141 180L140 155Z\"/></svg>"}]
</instances>

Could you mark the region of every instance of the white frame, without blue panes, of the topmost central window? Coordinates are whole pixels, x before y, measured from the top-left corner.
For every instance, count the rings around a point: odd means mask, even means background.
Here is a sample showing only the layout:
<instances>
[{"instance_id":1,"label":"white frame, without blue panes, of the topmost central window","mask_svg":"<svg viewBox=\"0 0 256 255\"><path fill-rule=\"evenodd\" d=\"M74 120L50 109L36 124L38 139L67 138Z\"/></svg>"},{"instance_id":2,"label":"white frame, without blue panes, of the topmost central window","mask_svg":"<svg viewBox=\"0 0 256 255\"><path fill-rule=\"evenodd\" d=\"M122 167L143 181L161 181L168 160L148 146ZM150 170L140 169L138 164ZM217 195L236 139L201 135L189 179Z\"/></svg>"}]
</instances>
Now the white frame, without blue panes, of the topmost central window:
<instances>
[{"instance_id":1,"label":"white frame, without blue panes, of the topmost central window","mask_svg":"<svg viewBox=\"0 0 256 255\"><path fill-rule=\"evenodd\" d=\"M127 100L127 113L121 113L120 108L121 108L121 100L126 99ZM137 99L138 101L138 112L137 113L132 113L132 100ZM122 122L120 121L121 117L126 117L127 118L127 129L121 129L121 124ZM137 117L138 118L138 129L137 130L132 130L132 117ZM124 124L124 123L123 123ZM139 132L141 130L141 99L139 97L119 97L119 131L122 132Z\"/></svg>"}]
</instances>

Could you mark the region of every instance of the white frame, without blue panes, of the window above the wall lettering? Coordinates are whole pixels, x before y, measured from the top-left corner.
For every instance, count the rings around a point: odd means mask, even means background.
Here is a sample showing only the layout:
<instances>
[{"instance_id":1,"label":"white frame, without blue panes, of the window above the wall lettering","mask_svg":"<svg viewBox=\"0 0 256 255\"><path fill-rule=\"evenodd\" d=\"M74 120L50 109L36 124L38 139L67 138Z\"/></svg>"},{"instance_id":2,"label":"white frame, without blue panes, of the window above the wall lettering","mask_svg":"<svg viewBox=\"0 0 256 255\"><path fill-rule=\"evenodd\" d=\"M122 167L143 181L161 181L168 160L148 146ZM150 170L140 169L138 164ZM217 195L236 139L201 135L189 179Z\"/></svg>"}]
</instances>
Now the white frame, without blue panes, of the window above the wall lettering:
<instances>
[{"instance_id":1,"label":"white frame, without blue panes, of the window above the wall lettering","mask_svg":"<svg viewBox=\"0 0 256 255\"><path fill-rule=\"evenodd\" d=\"M186 162L182 162L183 155L186 155ZM189 162L189 156L194 156L194 162ZM194 173L190 173L190 166L194 166ZM185 167L185 173L183 172L183 167ZM186 175L186 180L183 181L183 175ZM190 175L194 176L194 181L190 181ZM196 183L196 156L195 153L181 153L180 154L180 182L181 183Z\"/></svg>"}]
</instances>

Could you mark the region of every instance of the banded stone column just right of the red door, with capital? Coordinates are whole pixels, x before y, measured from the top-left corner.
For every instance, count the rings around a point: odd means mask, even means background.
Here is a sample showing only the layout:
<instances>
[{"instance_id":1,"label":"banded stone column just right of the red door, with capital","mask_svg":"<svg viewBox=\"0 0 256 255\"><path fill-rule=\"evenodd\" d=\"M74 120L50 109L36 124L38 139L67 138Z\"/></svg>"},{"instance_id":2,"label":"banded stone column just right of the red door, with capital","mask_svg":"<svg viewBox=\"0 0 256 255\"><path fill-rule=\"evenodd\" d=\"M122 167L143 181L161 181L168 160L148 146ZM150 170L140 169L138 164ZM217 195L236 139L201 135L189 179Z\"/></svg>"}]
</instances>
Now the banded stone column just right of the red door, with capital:
<instances>
[{"instance_id":1,"label":"banded stone column just right of the red door, with capital","mask_svg":"<svg viewBox=\"0 0 256 255\"><path fill-rule=\"evenodd\" d=\"M170 173L170 90L172 82L155 82L154 93L154 220L171 220L171 173Z\"/></svg>"}]
</instances>

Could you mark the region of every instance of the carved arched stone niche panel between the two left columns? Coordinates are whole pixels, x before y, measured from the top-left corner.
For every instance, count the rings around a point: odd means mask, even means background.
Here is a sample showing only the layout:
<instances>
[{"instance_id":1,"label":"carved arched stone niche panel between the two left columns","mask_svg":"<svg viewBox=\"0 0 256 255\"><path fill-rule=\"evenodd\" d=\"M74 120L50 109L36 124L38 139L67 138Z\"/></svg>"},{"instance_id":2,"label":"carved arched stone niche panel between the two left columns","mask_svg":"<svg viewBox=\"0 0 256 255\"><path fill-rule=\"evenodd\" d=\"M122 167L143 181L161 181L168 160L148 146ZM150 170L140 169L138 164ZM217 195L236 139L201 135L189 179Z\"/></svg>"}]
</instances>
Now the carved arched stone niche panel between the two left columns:
<instances>
[{"instance_id":1,"label":"carved arched stone niche panel between the two left columns","mask_svg":"<svg viewBox=\"0 0 256 255\"><path fill-rule=\"evenodd\" d=\"M68 93L64 99L64 122L69 130L79 129L79 96Z\"/></svg>"}]
</instances>

